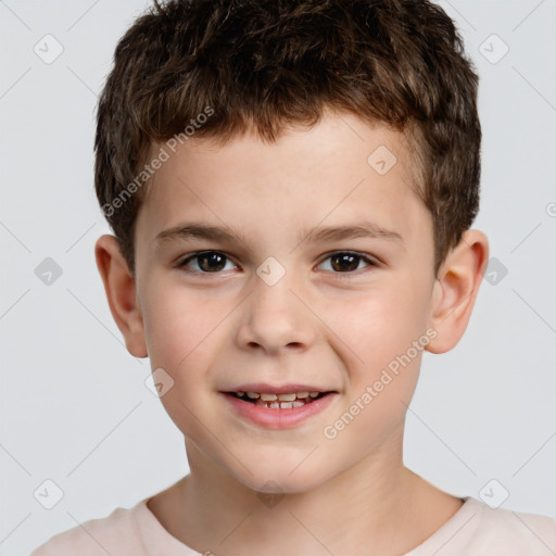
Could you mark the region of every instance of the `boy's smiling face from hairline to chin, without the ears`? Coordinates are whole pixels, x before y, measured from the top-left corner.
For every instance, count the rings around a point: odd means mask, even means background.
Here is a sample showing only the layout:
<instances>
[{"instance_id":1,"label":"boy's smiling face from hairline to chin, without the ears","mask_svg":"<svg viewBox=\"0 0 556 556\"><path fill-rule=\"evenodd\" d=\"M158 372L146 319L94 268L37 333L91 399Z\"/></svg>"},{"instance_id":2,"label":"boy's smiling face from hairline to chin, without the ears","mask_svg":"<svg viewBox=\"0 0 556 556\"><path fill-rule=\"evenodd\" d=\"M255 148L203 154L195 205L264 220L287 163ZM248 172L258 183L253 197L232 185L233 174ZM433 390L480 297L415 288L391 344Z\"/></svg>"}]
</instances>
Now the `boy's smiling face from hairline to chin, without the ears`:
<instances>
[{"instance_id":1,"label":"boy's smiling face from hairline to chin, without the ears","mask_svg":"<svg viewBox=\"0 0 556 556\"><path fill-rule=\"evenodd\" d=\"M367 162L380 146L397 159L383 175L375 168L390 159ZM137 296L152 368L174 380L162 402L192 469L219 466L251 488L294 492L358 463L401 464L434 286L432 220L408 186L412 169L397 134L329 115L277 143L189 140L157 170L137 220ZM192 223L242 239L161 238ZM391 233L307 236L370 223ZM200 251L216 253L193 257ZM286 414L298 408L226 393L273 387L333 393L296 421ZM334 425L345 412L348 425Z\"/></svg>"}]
</instances>

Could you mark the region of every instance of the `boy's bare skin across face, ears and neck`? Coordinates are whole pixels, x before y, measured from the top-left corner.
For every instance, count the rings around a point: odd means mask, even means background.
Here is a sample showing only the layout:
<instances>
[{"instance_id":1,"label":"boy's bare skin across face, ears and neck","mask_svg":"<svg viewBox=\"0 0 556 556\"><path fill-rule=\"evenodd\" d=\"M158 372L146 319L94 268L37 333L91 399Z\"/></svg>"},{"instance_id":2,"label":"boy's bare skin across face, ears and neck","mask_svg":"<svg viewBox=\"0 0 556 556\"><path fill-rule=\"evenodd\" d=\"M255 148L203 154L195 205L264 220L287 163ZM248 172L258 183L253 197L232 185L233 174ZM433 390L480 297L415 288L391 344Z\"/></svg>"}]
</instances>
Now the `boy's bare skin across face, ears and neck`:
<instances>
[{"instance_id":1,"label":"boy's bare skin across face, ears and neck","mask_svg":"<svg viewBox=\"0 0 556 556\"><path fill-rule=\"evenodd\" d=\"M386 175L367 163L379 146L397 159ZM432 219L410 187L412 168L402 135L331 112L276 143L250 134L225 146L193 138L156 172L141 205L135 276L115 238L98 240L98 267L128 351L174 380L161 401L185 435L190 473L148 506L193 549L401 555L460 508L462 500L403 464L422 351L336 438L323 432L427 330L435 336L425 349L444 353L469 321L488 240L466 231L434 277ZM242 240L155 239L192 220L225 225ZM362 220L394 230L403 243L296 237ZM204 274L206 261L179 266L204 250L228 258ZM358 258L342 270L332 255L344 251L377 264ZM269 256L286 270L274 286L256 274ZM238 416L220 393L247 382L337 393L323 412L277 430ZM279 492L278 503L261 492Z\"/></svg>"}]
</instances>

